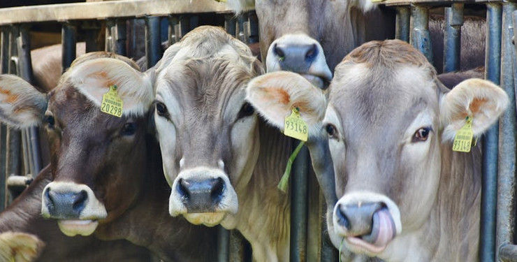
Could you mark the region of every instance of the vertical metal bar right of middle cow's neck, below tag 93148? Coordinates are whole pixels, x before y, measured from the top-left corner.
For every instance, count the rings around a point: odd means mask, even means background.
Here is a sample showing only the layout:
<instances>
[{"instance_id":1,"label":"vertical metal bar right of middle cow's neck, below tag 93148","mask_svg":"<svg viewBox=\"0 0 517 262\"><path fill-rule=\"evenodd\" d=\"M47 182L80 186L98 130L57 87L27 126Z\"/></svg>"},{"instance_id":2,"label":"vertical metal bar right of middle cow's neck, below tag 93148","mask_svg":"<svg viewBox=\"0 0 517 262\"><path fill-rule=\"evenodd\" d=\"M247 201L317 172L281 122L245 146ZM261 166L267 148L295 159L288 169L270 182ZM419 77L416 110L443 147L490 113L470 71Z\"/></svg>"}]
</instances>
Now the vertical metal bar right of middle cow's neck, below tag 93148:
<instances>
[{"instance_id":1,"label":"vertical metal bar right of middle cow's neck, below tag 93148","mask_svg":"<svg viewBox=\"0 0 517 262\"><path fill-rule=\"evenodd\" d=\"M304 146L293 163L293 175L291 175L291 245L289 248L291 262L306 261L308 173L309 152Z\"/></svg>"}]
</instances>

